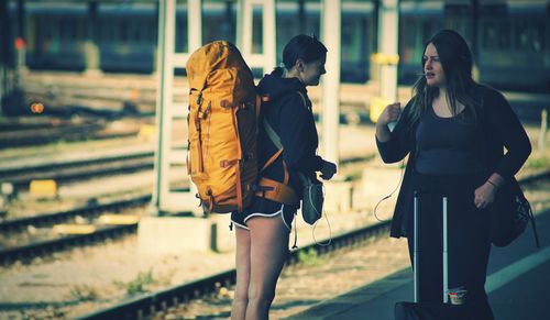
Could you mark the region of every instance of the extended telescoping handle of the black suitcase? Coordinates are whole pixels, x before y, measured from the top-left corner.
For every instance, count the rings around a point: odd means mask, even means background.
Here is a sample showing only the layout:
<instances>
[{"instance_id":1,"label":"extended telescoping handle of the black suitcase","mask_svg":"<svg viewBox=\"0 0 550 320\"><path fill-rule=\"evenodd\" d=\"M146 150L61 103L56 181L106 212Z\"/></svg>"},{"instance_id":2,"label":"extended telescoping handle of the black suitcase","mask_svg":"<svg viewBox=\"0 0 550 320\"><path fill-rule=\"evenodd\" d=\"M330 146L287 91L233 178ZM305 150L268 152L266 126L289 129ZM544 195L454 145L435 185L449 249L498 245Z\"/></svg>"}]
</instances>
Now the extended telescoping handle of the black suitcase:
<instances>
[{"instance_id":1,"label":"extended telescoping handle of the black suitcase","mask_svg":"<svg viewBox=\"0 0 550 320\"><path fill-rule=\"evenodd\" d=\"M413 268L414 268L414 280L415 280L415 302L419 302L419 291L418 291L418 284L419 284L419 258L420 258L420 251L418 249L418 198L419 198L419 192L415 191L414 192L414 223L415 223L415 252L413 253ZM449 274L448 274L448 262L449 262L449 253L448 253L448 242L447 242L447 196L442 196L442 213L443 213L443 247L442 247L442 258L443 258L443 304L449 302L449 296L447 295L447 291L449 289Z\"/></svg>"}]
</instances>

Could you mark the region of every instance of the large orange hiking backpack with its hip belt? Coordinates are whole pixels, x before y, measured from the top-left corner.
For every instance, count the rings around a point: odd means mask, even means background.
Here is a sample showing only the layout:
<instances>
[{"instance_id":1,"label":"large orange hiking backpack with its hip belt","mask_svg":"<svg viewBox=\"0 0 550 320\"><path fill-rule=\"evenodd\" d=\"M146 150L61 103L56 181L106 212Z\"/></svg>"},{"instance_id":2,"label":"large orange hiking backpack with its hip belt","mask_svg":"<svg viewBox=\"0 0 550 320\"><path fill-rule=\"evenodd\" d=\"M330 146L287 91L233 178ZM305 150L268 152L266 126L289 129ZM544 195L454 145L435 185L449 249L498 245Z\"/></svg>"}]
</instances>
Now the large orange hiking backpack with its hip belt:
<instances>
[{"instance_id":1,"label":"large orange hiking backpack with its hip belt","mask_svg":"<svg viewBox=\"0 0 550 320\"><path fill-rule=\"evenodd\" d=\"M252 71L239 49L227 41L209 43L191 54L186 69L189 81L187 172L197 186L205 211L242 212L254 194L296 203L296 196L289 196L293 189L286 186L288 181L256 180L260 109L268 97L256 93Z\"/></svg>"}]
</instances>

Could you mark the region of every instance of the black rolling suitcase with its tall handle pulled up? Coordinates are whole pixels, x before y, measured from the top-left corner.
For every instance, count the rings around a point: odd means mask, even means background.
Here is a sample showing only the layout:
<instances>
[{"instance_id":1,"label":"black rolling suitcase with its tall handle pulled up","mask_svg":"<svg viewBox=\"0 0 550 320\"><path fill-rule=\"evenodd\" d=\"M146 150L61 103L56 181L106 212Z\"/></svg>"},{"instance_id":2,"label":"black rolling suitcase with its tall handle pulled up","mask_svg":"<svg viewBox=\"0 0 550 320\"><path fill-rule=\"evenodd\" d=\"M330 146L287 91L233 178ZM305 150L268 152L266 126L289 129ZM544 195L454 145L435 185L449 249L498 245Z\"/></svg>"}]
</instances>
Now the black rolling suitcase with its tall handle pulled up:
<instances>
[{"instance_id":1,"label":"black rolling suitcase with its tall handle pulled up","mask_svg":"<svg viewBox=\"0 0 550 320\"><path fill-rule=\"evenodd\" d=\"M468 315L466 305L451 305L448 296L448 252L447 252L447 197L442 197L443 211L443 288L441 304L419 302L419 260L420 251L418 249L418 192L415 191L414 198L414 219L415 219L415 252L414 252L414 282L415 282L415 302L395 304L395 320L466 320L471 319ZM466 297L468 298L468 297Z\"/></svg>"}]
</instances>

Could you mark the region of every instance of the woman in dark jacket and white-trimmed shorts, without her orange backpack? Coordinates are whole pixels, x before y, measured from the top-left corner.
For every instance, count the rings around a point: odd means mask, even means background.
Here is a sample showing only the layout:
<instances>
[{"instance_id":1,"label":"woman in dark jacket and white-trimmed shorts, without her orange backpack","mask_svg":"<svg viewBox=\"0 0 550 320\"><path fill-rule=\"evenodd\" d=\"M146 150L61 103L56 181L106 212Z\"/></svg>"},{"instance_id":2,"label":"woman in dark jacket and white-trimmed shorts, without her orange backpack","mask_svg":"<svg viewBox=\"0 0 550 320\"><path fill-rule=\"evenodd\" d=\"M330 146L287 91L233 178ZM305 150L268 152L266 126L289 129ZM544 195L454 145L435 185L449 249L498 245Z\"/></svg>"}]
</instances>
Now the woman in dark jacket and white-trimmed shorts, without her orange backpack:
<instances>
[{"instance_id":1,"label":"woman in dark jacket and white-trimmed shorts, without her orange backpack","mask_svg":"<svg viewBox=\"0 0 550 320\"><path fill-rule=\"evenodd\" d=\"M284 67L277 67L260 81L258 93L268 97L262 107L262 121L279 137L282 153L273 137L260 124L258 167L271 163L261 178L287 185L299 199L298 173L312 179L317 172L330 179L333 163L318 156L318 135L311 101L306 87L319 85L326 73L327 47L315 36L297 35L284 48ZM273 159L273 157L275 157ZM260 186L243 212L233 212L237 239L237 288L231 319L267 319L275 287L288 254L292 222L299 202L282 203L264 197Z\"/></svg>"}]
</instances>

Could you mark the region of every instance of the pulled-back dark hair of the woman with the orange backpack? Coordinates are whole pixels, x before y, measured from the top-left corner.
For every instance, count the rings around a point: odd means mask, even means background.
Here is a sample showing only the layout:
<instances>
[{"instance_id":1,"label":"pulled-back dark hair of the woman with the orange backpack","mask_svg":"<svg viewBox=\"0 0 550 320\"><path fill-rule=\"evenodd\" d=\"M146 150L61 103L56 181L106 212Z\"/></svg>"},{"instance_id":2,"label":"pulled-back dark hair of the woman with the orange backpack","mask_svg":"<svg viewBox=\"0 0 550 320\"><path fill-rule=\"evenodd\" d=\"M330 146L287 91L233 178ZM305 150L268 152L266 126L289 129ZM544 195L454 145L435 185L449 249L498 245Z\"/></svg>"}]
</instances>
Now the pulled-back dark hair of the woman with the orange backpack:
<instances>
[{"instance_id":1,"label":"pulled-back dark hair of the woman with the orange backpack","mask_svg":"<svg viewBox=\"0 0 550 320\"><path fill-rule=\"evenodd\" d=\"M327 56L327 47L315 35L299 34L290 38L285 45L283 49L283 64L289 70L298 59L308 64L324 56ZM282 76L283 68L276 67L272 74Z\"/></svg>"}]
</instances>

